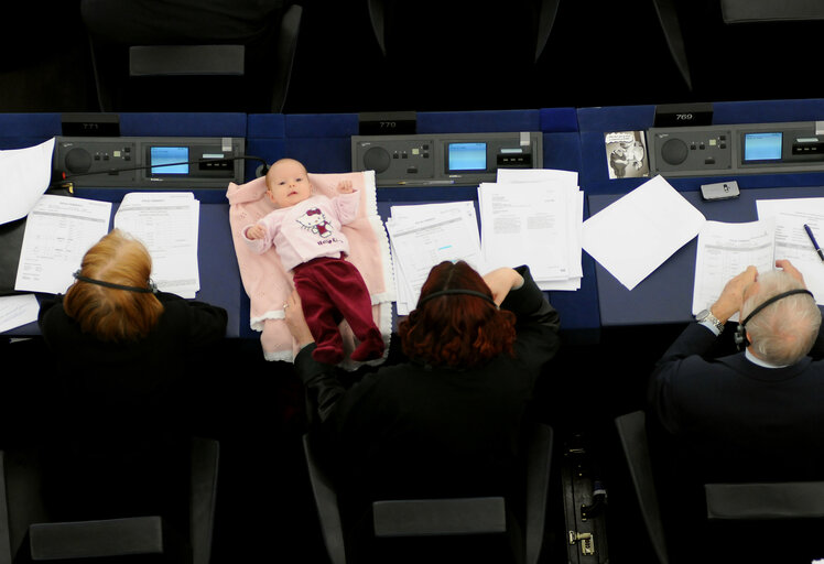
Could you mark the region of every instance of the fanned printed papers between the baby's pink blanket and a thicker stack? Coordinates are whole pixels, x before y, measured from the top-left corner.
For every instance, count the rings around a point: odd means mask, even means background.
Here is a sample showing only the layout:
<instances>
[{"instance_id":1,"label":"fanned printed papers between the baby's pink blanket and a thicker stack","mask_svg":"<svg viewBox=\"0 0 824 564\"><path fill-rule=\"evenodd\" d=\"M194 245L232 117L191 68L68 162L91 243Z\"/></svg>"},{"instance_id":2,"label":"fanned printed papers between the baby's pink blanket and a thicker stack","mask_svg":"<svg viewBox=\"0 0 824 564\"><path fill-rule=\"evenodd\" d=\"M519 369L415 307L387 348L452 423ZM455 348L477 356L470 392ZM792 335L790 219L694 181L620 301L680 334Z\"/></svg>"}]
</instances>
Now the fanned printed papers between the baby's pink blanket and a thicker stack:
<instances>
[{"instance_id":1,"label":"fanned printed papers between the baby's pink blanket and a thicker stack","mask_svg":"<svg viewBox=\"0 0 824 564\"><path fill-rule=\"evenodd\" d=\"M414 310L430 270L442 261L464 260L486 273L471 202L392 206L390 214L398 315Z\"/></svg>"}]
</instances>

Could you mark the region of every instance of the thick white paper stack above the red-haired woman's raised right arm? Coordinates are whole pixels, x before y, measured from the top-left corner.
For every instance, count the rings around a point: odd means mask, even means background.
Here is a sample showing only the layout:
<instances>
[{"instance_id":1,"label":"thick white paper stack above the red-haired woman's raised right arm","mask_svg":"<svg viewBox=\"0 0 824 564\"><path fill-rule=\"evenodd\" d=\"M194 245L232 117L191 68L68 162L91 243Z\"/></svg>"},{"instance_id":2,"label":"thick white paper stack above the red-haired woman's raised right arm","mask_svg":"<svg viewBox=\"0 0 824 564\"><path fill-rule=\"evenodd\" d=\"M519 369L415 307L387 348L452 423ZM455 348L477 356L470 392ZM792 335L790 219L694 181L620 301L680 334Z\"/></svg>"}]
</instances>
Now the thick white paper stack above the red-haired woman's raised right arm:
<instances>
[{"instance_id":1,"label":"thick white paper stack above the red-haired woman's raised right arm","mask_svg":"<svg viewBox=\"0 0 824 564\"><path fill-rule=\"evenodd\" d=\"M542 290L577 290L584 193L577 173L501 169L478 186L481 249L489 269L528 264Z\"/></svg>"}]
</instances>

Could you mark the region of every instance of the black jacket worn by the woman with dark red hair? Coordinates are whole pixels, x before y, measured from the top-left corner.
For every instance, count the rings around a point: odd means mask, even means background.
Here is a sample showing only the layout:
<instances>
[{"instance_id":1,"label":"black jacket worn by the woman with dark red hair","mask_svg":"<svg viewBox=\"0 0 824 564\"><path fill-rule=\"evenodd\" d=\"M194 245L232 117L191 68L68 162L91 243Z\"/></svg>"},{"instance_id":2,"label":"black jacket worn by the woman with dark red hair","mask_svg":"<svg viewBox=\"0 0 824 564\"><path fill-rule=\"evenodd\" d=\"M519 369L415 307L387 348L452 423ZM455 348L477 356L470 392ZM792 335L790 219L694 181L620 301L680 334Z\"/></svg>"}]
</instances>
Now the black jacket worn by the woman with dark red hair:
<instances>
[{"instance_id":1,"label":"black jacket worn by the woman with dark red hair","mask_svg":"<svg viewBox=\"0 0 824 564\"><path fill-rule=\"evenodd\" d=\"M531 278L501 307L516 313L514 357L459 370L405 361L347 389L300 351L295 367L319 405L317 437L350 500L502 494L533 384L559 348L559 315Z\"/></svg>"}]
</instances>

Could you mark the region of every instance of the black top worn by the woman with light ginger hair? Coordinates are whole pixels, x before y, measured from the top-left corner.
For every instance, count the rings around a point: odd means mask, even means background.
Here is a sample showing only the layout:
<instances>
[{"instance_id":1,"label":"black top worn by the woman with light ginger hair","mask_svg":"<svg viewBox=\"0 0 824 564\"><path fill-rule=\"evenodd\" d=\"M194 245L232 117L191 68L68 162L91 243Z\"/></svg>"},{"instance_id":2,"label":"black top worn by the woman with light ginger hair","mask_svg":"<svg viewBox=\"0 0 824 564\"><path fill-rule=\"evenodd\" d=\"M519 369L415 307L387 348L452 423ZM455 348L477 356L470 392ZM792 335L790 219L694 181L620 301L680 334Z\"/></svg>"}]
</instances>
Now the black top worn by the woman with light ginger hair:
<instances>
[{"instance_id":1,"label":"black top worn by the woman with light ginger hair","mask_svg":"<svg viewBox=\"0 0 824 564\"><path fill-rule=\"evenodd\" d=\"M63 299L41 304L52 356L53 419L46 437L46 499L58 518L156 514L186 525L193 387L226 335L226 311L160 293L163 314L142 340L84 334Z\"/></svg>"}]
</instances>

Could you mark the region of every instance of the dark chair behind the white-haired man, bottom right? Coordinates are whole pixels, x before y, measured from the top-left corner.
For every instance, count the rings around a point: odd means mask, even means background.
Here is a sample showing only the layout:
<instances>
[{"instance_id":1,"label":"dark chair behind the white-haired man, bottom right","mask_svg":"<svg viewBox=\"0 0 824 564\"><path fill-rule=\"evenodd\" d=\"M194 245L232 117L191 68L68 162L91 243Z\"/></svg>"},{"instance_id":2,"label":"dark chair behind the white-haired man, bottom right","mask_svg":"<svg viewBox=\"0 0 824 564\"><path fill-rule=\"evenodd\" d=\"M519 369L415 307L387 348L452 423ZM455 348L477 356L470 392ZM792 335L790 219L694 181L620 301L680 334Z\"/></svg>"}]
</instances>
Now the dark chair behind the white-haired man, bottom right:
<instances>
[{"instance_id":1,"label":"dark chair behind the white-haired man, bottom right","mask_svg":"<svg viewBox=\"0 0 824 564\"><path fill-rule=\"evenodd\" d=\"M670 532L662 519L654 468L650 456L647 420L642 411L616 417L621 448L627 459L630 478L643 519L647 534L658 562L666 564L677 561L676 551L670 543ZM704 484L706 501L706 531L717 535L719 547L704 554L704 562L746 562L747 550L753 550L758 558L752 562L811 562L807 553L814 551L811 540L801 534L802 525L820 528L817 519L824 518L824 481L781 482L725 482ZM782 525L796 531L792 538L781 536ZM758 534L753 535L753 531ZM746 533L746 534L745 534ZM776 546L768 545L768 538ZM758 539L748 546L751 539ZM805 546L806 544L806 546ZM726 549L735 556L727 558ZM762 560L767 551L776 550L779 560ZM818 553L824 554L824 553Z\"/></svg>"}]
</instances>

